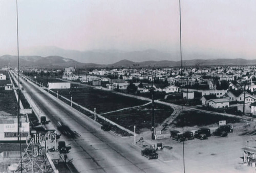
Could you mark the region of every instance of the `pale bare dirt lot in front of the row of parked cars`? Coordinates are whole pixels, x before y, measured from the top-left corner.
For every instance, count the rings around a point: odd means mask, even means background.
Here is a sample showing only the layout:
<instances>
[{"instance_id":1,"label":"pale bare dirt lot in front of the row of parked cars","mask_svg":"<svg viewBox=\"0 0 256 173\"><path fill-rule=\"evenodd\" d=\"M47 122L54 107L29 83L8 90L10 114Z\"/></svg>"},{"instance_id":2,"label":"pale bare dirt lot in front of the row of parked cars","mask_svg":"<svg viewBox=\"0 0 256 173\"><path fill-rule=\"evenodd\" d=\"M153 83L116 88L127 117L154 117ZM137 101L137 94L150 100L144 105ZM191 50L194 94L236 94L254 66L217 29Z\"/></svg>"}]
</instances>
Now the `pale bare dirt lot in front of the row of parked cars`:
<instances>
[{"instance_id":1,"label":"pale bare dirt lot in front of the row of parked cars","mask_svg":"<svg viewBox=\"0 0 256 173\"><path fill-rule=\"evenodd\" d=\"M256 136L241 135L253 131L254 122L245 127L246 122L234 123L234 132L227 137L210 136L207 140L193 139L184 142L186 172L256 172L255 168L243 165L245 145L255 146ZM152 140L151 140L152 141ZM159 152L164 162L173 165L174 172L183 172L183 145L176 140L162 139L152 141L162 142L170 150Z\"/></svg>"}]
</instances>

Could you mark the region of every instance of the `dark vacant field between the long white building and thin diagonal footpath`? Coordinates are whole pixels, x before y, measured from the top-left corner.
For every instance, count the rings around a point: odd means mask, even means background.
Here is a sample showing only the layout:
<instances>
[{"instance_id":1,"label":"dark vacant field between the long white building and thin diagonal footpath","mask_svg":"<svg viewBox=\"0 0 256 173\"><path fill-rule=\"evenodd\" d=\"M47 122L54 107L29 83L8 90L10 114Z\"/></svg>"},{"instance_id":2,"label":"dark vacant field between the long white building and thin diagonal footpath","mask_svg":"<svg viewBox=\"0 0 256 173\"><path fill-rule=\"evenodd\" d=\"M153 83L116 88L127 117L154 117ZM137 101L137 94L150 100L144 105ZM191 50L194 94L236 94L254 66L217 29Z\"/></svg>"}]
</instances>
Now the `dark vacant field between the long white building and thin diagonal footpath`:
<instances>
[{"instance_id":1,"label":"dark vacant field between the long white building and thin diagonal footpath","mask_svg":"<svg viewBox=\"0 0 256 173\"><path fill-rule=\"evenodd\" d=\"M110 112L122 108L143 105L146 101L131 98L109 91L102 91L91 87L59 89L59 94L70 98L77 104L92 111L96 108L97 113ZM57 92L55 89L54 92Z\"/></svg>"}]
</instances>

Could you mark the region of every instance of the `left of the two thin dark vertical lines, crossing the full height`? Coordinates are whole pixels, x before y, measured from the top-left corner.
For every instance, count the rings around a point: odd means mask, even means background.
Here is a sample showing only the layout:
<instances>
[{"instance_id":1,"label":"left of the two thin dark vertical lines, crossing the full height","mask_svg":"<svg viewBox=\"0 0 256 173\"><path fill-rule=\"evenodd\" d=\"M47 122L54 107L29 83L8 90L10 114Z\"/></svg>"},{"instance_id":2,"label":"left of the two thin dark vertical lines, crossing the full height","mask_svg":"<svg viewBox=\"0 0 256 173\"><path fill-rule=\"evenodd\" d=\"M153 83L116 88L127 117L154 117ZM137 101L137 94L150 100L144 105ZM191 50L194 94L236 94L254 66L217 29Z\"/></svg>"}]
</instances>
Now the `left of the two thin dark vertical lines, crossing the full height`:
<instances>
[{"instance_id":1,"label":"left of the two thin dark vertical lines, crossing the full height","mask_svg":"<svg viewBox=\"0 0 256 173\"><path fill-rule=\"evenodd\" d=\"M22 141L21 141L21 136L20 136L20 115L19 115L19 96L20 96L20 90L19 90L19 48L18 48L18 0L16 0L16 21L17 21L17 56L18 56L18 141L19 141L19 149L20 149L20 167L21 167L21 172L22 172Z\"/></svg>"}]
</instances>

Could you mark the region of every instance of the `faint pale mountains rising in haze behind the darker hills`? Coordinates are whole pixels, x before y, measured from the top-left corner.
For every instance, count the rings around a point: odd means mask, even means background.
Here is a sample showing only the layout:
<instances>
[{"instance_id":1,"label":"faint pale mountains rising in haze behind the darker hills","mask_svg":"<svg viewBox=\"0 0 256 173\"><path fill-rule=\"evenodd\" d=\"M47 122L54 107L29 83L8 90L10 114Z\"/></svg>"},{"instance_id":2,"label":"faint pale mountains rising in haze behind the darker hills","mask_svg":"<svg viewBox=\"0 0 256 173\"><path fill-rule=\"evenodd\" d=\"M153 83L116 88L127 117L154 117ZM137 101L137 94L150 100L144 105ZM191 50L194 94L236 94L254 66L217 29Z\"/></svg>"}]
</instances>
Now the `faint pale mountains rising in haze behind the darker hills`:
<instances>
[{"instance_id":1,"label":"faint pale mountains rising in haze behind the darker hills","mask_svg":"<svg viewBox=\"0 0 256 173\"><path fill-rule=\"evenodd\" d=\"M38 46L27 48L22 52L23 55L37 55L42 57L56 55L70 58L81 63L97 64L113 64L124 59L134 62L150 60L179 60L179 57L175 53L169 54L153 49L132 52L125 52L119 50L75 51L65 50L55 46Z\"/></svg>"}]
</instances>

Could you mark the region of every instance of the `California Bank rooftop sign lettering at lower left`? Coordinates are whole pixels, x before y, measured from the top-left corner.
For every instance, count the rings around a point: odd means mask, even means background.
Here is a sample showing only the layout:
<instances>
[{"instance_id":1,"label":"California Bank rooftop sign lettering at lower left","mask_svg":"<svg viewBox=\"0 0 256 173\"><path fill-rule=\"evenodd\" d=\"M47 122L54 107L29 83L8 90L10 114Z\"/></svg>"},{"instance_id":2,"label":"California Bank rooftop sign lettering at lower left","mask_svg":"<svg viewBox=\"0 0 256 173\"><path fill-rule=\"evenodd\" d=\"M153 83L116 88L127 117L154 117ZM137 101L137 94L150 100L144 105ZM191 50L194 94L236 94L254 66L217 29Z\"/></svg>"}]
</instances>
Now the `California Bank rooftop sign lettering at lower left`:
<instances>
[{"instance_id":1,"label":"California Bank rooftop sign lettering at lower left","mask_svg":"<svg viewBox=\"0 0 256 173\"><path fill-rule=\"evenodd\" d=\"M33 157L38 157L48 153L49 147L47 146L47 142L52 140L56 140L56 131L53 131L53 130L48 131L48 133L46 134L37 133L37 134L33 134L32 137L28 136L26 138L26 144L27 145L39 144L39 146L33 147ZM43 144L45 146L43 146Z\"/></svg>"}]
</instances>

